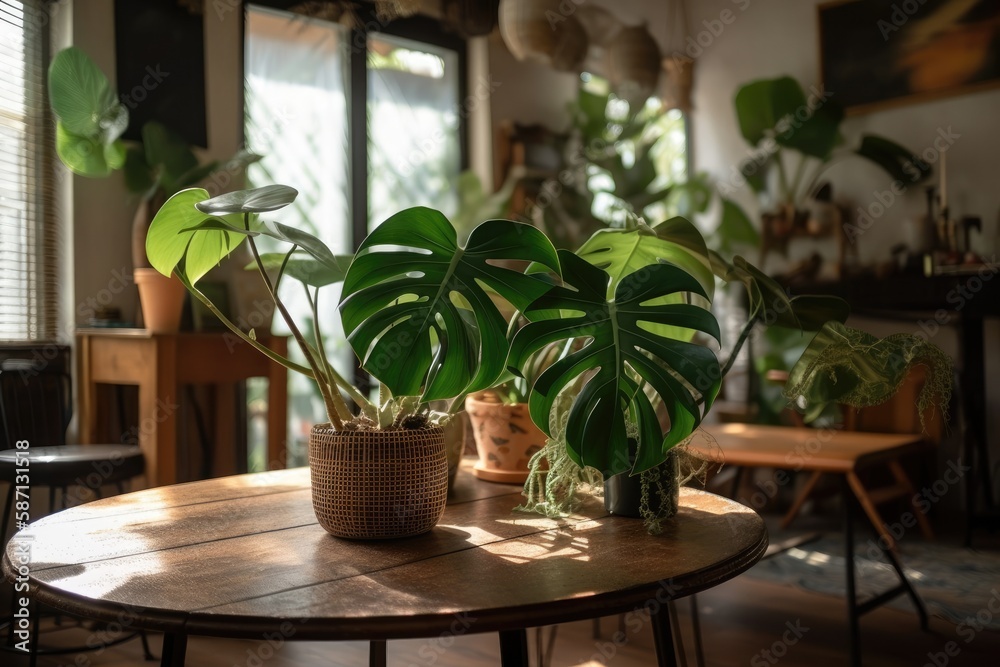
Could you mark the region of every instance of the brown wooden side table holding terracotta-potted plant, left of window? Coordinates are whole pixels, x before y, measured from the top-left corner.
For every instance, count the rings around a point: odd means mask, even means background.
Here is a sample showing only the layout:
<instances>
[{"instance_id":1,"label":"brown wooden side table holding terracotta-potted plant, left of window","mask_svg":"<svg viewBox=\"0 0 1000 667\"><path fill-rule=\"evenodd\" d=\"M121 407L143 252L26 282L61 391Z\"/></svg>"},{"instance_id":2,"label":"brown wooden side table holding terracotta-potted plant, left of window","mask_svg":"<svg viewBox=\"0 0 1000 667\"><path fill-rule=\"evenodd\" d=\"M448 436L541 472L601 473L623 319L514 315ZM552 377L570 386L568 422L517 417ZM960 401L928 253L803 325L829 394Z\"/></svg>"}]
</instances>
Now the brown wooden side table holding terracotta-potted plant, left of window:
<instances>
[{"instance_id":1,"label":"brown wooden side table holding terracotta-potted plant, left of window","mask_svg":"<svg viewBox=\"0 0 1000 667\"><path fill-rule=\"evenodd\" d=\"M98 441L98 384L139 387L139 447L146 486L177 481L177 411L185 384L231 388L251 377L268 378L267 460L285 461L288 377L239 338L223 333L159 334L145 329L77 330L80 440ZM287 339L262 341L284 354ZM231 415L232 416L232 415ZM221 423L222 419L220 419Z\"/></svg>"}]
</instances>

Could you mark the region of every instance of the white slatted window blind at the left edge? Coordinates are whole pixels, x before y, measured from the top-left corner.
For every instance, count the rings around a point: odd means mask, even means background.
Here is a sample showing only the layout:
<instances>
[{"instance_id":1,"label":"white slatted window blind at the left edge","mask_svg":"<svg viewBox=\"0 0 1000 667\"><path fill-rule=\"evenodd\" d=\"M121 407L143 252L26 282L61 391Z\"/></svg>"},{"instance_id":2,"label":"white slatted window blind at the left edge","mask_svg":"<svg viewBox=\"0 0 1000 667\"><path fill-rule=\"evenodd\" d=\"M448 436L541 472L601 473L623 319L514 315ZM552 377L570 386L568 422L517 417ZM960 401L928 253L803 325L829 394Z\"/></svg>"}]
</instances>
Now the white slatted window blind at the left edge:
<instances>
[{"instance_id":1,"label":"white slatted window blind at the left edge","mask_svg":"<svg viewBox=\"0 0 1000 667\"><path fill-rule=\"evenodd\" d=\"M0 0L0 341L58 338L48 4Z\"/></svg>"}]
</instances>

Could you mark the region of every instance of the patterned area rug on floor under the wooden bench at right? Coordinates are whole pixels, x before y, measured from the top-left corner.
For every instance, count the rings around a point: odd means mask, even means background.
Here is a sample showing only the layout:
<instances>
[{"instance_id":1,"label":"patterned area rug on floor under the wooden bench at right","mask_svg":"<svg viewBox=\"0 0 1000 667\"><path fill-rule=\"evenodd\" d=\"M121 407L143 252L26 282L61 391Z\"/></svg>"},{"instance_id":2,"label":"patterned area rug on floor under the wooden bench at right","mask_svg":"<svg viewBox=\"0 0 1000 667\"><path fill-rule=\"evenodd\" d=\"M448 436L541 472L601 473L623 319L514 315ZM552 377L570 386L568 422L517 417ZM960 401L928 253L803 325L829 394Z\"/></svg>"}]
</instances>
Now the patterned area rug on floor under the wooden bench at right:
<instances>
[{"instance_id":1,"label":"patterned area rug on floor under the wooden bench at right","mask_svg":"<svg viewBox=\"0 0 1000 667\"><path fill-rule=\"evenodd\" d=\"M899 581L892 566L873 547L874 543L867 541L855 546L859 600ZM991 610L1000 609L1000 553L918 541L902 544L900 549L906 575L929 614L955 624L978 617L979 624L1000 630L1000 613ZM747 576L843 598L843 538L823 535L790 548L762 560ZM906 595L895 598L889 606L915 611Z\"/></svg>"}]
</instances>

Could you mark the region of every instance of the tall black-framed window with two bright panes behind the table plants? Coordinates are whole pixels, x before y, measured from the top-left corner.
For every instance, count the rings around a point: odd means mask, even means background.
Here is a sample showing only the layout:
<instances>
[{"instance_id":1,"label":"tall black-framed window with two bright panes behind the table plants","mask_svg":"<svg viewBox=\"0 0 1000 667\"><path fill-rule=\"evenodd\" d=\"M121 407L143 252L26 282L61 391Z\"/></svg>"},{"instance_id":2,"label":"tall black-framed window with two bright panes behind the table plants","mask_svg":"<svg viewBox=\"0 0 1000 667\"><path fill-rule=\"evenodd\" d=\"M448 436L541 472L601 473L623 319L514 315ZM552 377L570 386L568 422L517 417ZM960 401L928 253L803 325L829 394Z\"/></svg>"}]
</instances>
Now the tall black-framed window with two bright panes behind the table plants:
<instances>
[{"instance_id":1,"label":"tall black-framed window with two bright panes behind the table plants","mask_svg":"<svg viewBox=\"0 0 1000 667\"><path fill-rule=\"evenodd\" d=\"M365 33L329 11L304 16L247 6L246 141L264 156L248 181L296 188L294 210L281 221L319 236L335 253L351 253L369 229L403 208L455 212L454 184L465 164L464 43L430 20ZM308 313L293 282L282 285L282 299ZM353 354L336 310L339 286L320 296L327 352L349 376ZM283 326L276 318L275 331ZM313 383L295 374L289 399L293 465L304 461L308 429L325 413Z\"/></svg>"}]
</instances>

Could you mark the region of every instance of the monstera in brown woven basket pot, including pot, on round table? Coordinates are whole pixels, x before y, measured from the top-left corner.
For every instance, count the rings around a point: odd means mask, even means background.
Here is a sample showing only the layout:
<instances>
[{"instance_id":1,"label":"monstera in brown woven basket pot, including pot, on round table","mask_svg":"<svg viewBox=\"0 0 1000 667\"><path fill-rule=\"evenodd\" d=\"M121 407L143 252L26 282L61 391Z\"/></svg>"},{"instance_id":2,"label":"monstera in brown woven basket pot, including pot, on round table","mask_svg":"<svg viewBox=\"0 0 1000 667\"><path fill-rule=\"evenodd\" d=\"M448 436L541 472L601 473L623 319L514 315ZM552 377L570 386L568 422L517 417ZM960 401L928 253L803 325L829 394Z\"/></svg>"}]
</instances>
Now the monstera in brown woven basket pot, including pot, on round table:
<instances>
[{"instance_id":1,"label":"monstera in brown woven basket pot, including pot, on round table","mask_svg":"<svg viewBox=\"0 0 1000 667\"><path fill-rule=\"evenodd\" d=\"M521 260L558 273L555 249L539 230L505 220L479 225L460 246L443 215L414 208L379 225L348 268L314 236L262 219L295 196L286 186L215 198L183 190L150 225L150 262L164 275L176 273L237 336L315 380L329 423L313 428L309 464L314 509L327 531L369 539L425 532L444 510L448 474L441 428L448 415L431 412L429 403L449 401L454 412L467 394L496 382L507 358L508 323L487 289L523 308L549 287L497 263ZM261 254L260 236L289 249ZM240 330L198 289L198 280L244 239L305 365ZM341 377L323 346L310 342L278 295L286 279L302 283L314 311L320 289L343 280L344 329L362 366L381 383L378 399ZM319 322L315 313L312 322ZM322 340L322 332L313 334Z\"/></svg>"}]
</instances>

